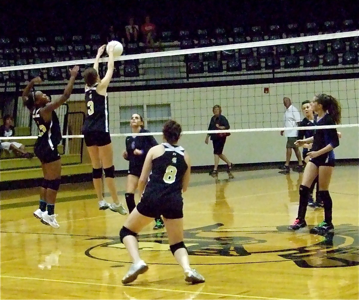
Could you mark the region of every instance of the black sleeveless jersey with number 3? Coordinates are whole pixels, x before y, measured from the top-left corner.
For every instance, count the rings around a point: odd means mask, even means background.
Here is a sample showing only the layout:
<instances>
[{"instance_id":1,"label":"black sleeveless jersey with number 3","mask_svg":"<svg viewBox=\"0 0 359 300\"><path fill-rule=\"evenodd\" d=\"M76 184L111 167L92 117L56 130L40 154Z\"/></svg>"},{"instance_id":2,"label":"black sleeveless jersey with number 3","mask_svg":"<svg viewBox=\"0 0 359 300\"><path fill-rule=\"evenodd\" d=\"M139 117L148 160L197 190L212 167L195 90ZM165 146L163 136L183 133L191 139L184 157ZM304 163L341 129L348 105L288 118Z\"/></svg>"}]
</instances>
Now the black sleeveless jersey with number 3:
<instances>
[{"instance_id":1,"label":"black sleeveless jersey with number 3","mask_svg":"<svg viewBox=\"0 0 359 300\"><path fill-rule=\"evenodd\" d=\"M85 88L87 114L82 127L83 132L108 131L108 97L96 91L97 84Z\"/></svg>"}]
</instances>

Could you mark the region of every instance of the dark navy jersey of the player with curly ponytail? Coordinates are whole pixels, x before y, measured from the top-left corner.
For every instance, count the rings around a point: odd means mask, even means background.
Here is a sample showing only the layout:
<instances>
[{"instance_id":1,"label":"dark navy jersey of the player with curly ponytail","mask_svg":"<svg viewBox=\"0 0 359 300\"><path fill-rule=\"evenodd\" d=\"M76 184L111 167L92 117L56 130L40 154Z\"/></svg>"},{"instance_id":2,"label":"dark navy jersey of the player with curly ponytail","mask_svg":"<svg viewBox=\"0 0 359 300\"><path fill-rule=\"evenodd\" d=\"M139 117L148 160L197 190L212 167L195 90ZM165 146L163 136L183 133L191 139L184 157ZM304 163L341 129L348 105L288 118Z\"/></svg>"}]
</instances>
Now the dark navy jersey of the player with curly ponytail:
<instances>
[{"instance_id":1,"label":"dark navy jersey of the player with curly ponytail","mask_svg":"<svg viewBox=\"0 0 359 300\"><path fill-rule=\"evenodd\" d=\"M317 126L323 125L335 125L334 120L329 114L325 114L322 119L316 121ZM331 144L333 148L339 146L339 138L337 135L337 130L335 128L331 129L316 129L314 133L313 147L311 151L318 151L328 144ZM334 151L331 150L328 152L328 157L334 159Z\"/></svg>"}]
</instances>

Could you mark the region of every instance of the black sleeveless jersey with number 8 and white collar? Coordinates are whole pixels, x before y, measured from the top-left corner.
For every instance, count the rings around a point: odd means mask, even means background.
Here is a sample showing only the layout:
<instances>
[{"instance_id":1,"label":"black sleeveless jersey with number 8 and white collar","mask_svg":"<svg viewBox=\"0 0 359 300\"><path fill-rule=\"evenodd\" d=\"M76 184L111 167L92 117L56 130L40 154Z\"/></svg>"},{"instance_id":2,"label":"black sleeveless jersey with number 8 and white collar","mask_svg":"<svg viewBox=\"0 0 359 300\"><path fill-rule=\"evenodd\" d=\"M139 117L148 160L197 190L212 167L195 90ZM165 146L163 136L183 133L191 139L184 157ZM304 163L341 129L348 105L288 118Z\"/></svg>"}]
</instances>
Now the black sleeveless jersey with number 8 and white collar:
<instances>
[{"instance_id":1,"label":"black sleeveless jersey with number 8 and white collar","mask_svg":"<svg viewBox=\"0 0 359 300\"><path fill-rule=\"evenodd\" d=\"M164 153L152 160L152 170L145 188L146 194L154 197L182 194L183 176L188 168L185 161L185 149L162 143Z\"/></svg>"}]
</instances>

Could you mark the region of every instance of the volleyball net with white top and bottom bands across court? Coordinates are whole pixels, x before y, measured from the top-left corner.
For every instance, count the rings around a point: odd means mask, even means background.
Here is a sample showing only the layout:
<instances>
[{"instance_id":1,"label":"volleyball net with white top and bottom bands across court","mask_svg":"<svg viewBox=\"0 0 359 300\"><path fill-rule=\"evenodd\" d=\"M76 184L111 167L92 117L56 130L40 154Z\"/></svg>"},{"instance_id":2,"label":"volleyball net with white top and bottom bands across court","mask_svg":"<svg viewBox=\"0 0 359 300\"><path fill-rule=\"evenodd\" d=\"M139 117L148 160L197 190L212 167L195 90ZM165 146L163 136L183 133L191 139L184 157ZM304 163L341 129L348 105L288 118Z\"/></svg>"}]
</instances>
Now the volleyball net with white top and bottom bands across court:
<instances>
[{"instance_id":1,"label":"volleyball net with white top and bottom bands across court","mask_svg":"<svg viewBox=\"0 0 359 300\"><path fill-rule=\"evenodd\" d=\"M165 121L177 120L183 135L197 135L191 138L192 142L207 133L287 130L283 128L283 98L290 98L301 112L301 103L320 93L332 95L341 104L342 124L331 127L351 128L349 134L357 134L358 36L359 31L351 31L282 39L264 37L263 41L254 42L239 36L214 41L225 42L224 45L204 47L208 44L203 41L195 44L191 41L181 43L182 48L190 49L140 54L129 54L135 50L125 45L124 55L115 57L115 71L107 90L111 136L129 135L129 120L135 113L143 116L145 128L155 136L162 134ZM97 47L87 47L88 51L80 56L75 53L75 46L66 47L67 57L59 57L58 47L52 47L51 57L46 59L37 52L26 60L27 64L21 64L25 61L21 56L8 60L7 65L3 63L0 74L6 83L0 88L4 90L6 84L9 92L18 86L19 97L27 81L41 74L45 80L35 88L58 97L67 84L68 69L79 65L80 72L67 101L70 109L60 108L58 114L63 115L60 120L64 138L81 138L81 124L71 125L65 116L87 111L82 74L92 66ZM161 47L160 50L166 50L165 46ZM107 61L108 57L100 59L100 77L106 73ZM222 107L230 130L207 130L214 105ZM21 97L16 107L16 126L32 128L30 135L17 139L36 138L36 126L31 124L30 113L23 107ZM303 117L301 112L301 119ZM83 120L82 117L73 119L78 123ZM234 144L240 140L238 137Z\"/></svg>"}]
</instances>

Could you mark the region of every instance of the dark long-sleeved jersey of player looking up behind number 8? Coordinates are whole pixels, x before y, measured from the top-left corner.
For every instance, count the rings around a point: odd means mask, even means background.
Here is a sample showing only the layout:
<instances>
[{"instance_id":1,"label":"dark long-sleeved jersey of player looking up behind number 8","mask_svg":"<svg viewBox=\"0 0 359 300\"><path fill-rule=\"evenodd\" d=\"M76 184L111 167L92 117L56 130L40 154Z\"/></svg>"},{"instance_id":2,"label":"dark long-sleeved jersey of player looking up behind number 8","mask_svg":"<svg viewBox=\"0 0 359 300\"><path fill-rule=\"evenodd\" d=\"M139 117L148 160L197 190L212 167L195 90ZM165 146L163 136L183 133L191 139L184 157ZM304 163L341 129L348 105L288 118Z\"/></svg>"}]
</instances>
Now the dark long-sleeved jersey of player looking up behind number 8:
<instances>
[{"instance_id":1,"label":"dark long-sleeved jersey of player looking up behind number 8","mask_svg":"<svg viewBox=\"0 0 359 300\"><path fill-rule=\"evenodd\" d=\"M140 133L149 132L146 129L141 128ZM142 170L148 151L153 147L157 146L158 143L152 135L137 135L135 137L126 137L126 152L127 159L130 161L130 168L137 167ZM142 150L141 155L135 155L134 150Z\"/></svg>"}]
</instances>

